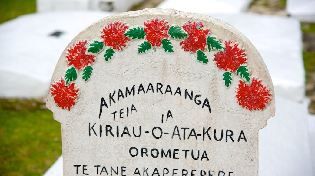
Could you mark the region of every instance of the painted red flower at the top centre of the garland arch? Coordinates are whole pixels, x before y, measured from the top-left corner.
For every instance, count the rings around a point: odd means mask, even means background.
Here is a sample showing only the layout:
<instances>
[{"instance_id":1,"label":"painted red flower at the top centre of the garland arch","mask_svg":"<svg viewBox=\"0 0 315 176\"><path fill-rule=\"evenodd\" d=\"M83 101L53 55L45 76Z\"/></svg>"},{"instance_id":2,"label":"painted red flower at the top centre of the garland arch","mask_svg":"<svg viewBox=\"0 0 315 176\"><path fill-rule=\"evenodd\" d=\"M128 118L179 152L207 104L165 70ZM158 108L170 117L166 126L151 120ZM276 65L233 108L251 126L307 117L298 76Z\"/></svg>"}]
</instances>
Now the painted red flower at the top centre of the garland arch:
<instances>
[{"instance_id":1,"label":"painted red flower at the top centre of the garland arch","mask_svg":"<svg viewBox=\"0 0 315 176\"><path fill-rule=\"evenodd\" d=\"M153 18L144 22L144 26L146 40L152 44L152 46L160 47L162 39L169 37L167 33L169 31L169 24L167 21Z\"/></svg>"}]
</instances>

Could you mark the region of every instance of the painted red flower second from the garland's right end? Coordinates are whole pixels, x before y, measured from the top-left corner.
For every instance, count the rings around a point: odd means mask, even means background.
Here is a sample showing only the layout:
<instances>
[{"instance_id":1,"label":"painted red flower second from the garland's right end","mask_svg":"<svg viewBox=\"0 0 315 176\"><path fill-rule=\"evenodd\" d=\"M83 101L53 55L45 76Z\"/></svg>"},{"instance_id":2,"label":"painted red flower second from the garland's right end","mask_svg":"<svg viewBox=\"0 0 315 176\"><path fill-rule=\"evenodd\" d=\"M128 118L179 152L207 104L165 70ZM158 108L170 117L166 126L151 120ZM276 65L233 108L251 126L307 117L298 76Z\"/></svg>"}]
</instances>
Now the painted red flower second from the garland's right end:
<instances>
[{"instance_id":1,"label":"painted red flower second from the garland's right end","mask_svg":"<svg viewBox=\"0 0 315 176\"><path fill-rule=\"evenodd\" d=\"M238 67L246 63L245 49L240 50L233 41L225 41L225 51L215 54L217 67L225 71L235 72Z\"/></svg>"}]
</instances>

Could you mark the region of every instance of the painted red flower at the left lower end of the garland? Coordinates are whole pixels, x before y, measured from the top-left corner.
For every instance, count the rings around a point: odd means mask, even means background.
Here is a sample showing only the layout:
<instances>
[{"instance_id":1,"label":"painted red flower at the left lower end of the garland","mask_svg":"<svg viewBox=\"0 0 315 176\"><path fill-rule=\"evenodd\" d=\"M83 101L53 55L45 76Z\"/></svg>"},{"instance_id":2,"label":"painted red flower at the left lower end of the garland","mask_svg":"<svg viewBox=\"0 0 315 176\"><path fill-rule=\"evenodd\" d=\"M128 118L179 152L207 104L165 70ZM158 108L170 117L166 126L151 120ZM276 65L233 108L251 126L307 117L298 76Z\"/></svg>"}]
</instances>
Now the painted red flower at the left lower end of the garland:
<instances>
[{"instance_id":1,"label":"painted red flower at the left lower end of the garland","mask_svg":"<svg viewBox=\"0 0 315 176\"><path fill-rule=\"evenodd\" d=\"M75 104L75 100L78 97L77 92L79 89L74 88L74 83L65 85L65 80L60 79L52 85L50 88L51 94L54 96L55 103L62 109L68 108Z\"/></svg>"}]
</instances>

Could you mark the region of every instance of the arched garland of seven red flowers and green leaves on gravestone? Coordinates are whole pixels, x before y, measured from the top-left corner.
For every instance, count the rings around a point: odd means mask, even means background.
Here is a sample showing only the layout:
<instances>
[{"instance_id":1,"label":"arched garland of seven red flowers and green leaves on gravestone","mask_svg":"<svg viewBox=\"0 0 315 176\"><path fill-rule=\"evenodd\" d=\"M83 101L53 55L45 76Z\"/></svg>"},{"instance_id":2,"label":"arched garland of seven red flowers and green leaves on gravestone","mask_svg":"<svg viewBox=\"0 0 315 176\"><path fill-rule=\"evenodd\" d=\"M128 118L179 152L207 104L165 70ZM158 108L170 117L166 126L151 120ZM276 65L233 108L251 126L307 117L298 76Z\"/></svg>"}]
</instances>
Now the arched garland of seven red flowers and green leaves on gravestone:
<instances>
[{"instance_id":1,"label":"arched garland of seven red flowers and green leaves on gravestone","mask_svg":"<svg viewBox=\"0 0 315 176\"><path fill-rule=\"evenodd\" d=\"M182 26L171 26L165 19L156 17L145 21L144 26L129 27L123 21L107 23L101 29L100 39L89 41L89 43L83 39L67 49L66 61L70 68L66 71L64 78L57 79L52 84L50 92L59 107L70 111L79 97L79 89L76 88L74 82L78 73L81 72L82 79L88 81L93 72L91 66L95 62L95 55L104 48L107 48L104 55L105 61L112 59L115 50L123 50L131 39L146 40L139 45L139 54L151 49L156 51L161 47L165 52L173 53L171 39L174 39L180 40L180 46L184 51L197 53L197 60L203 64L209 62L204 52L215 51L216 66L225 71L222 76L226 88L232 84L232 74L240 77L240 83L236 89L236 102L251 111L264 109L271 100L271 94L269 89L262 85L261 80L253 77L250 81L245 49L240 49L239 44L233 40L224 41L223 47L221 42L210 34L209 28L206 28L202 22L196 21L186 21Z\"/></svg>"}]
</instances>

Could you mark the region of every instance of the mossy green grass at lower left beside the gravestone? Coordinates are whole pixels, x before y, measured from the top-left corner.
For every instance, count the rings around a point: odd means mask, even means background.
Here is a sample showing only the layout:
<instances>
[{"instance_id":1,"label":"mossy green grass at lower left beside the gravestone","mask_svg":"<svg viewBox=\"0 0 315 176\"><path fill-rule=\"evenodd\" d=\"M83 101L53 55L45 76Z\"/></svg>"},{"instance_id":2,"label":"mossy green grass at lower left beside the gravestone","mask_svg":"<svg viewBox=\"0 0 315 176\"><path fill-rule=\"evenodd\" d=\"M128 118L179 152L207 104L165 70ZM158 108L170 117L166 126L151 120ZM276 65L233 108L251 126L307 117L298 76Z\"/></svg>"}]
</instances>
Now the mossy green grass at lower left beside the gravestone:
<instances>
[{"instance_id":1,"label":"mossy green grass at lower left beside the gravestone","mask_svg":"<svg viewBox=\"0 0 315 176\"><path fill-rule=\"evenodd\" d=\"M61 155L60 123L43 106L0 99L0 175L43 175Z\"/></svg>"}]
</instances>

